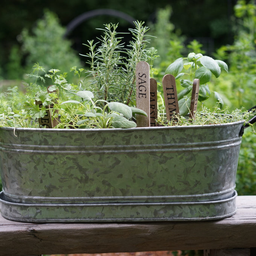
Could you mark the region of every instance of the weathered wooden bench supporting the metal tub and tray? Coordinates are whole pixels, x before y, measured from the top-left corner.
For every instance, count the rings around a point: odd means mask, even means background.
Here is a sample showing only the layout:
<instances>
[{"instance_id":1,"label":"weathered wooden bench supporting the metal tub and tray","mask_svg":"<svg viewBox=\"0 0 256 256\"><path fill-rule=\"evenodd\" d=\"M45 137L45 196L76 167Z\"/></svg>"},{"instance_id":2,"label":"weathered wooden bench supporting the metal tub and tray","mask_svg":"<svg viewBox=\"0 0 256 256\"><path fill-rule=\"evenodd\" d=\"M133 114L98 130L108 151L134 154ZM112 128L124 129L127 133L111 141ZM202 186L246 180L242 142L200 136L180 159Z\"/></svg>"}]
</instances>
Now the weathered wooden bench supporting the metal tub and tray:
<instances>
[{"instance_id":1,"label":"weathered wooden bench supporting the metal tub and tray","mask_svg":"<svg viewBox=\"0 0 256 256\"><path fill-rule=\"evenodd\" d=\"M256 196L217 221L38 224L0 217L0 255L198 250L206 256L256 255ZM207 249L207 250L206 250Z\"/></svg>"}]
</instances>

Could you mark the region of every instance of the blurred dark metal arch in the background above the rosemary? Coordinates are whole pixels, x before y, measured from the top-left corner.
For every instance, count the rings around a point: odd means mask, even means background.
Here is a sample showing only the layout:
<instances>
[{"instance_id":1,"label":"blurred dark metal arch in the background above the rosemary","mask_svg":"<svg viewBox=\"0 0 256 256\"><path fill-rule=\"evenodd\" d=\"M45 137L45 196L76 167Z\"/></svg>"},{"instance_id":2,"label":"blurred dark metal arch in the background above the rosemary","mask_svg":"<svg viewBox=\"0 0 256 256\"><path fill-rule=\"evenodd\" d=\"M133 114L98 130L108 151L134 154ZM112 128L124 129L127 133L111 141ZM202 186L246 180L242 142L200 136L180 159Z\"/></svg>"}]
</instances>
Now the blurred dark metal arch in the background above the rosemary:
<instances>
[{"instance_id":1,"label":"blurred dark metal arch in the background above the rosemary","mask_svg":"<svg viewBox=\"0 0 256 256\"><path fill-rule=\"evenodd\" d=\"M77 27L79 24L81 24L85 20L88 20L90 18L99 16L99 15L109 15L109 16L119 17L128 21L134 26L135 19L130 15L125 14L124 12L116 11L113 9L95 9L92 11L84 12L83 14L79 15L78 17L70 21L70 23L67 24L66 26L66 33L64 36L66 37L73 29L75 29L75 27Z\"/></svg>"}]
</instances>

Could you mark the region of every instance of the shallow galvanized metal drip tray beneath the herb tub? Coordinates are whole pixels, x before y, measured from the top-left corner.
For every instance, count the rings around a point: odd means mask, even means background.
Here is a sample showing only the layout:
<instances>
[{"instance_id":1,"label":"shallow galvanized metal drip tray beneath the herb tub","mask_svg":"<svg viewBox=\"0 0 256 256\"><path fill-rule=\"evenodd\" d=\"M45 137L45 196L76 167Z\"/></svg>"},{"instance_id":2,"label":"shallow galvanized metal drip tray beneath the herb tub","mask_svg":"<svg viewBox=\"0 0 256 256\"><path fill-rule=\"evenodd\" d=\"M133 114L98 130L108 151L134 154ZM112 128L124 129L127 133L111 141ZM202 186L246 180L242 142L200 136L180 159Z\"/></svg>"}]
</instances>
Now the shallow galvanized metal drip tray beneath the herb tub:
<instances>
[{"instance_id":1,"label":"shallow galvanized metal drip tray beneath the herb tub","mask_svg":"<svg viewBox=\"0 0 256 256\"><path fill-rule=\"evenodd\" d=\"M19 204L3 200L3 217L23 222L201 221L236 212L236 192L226 200L182 203Z\"/></svg>"}]
</instances>

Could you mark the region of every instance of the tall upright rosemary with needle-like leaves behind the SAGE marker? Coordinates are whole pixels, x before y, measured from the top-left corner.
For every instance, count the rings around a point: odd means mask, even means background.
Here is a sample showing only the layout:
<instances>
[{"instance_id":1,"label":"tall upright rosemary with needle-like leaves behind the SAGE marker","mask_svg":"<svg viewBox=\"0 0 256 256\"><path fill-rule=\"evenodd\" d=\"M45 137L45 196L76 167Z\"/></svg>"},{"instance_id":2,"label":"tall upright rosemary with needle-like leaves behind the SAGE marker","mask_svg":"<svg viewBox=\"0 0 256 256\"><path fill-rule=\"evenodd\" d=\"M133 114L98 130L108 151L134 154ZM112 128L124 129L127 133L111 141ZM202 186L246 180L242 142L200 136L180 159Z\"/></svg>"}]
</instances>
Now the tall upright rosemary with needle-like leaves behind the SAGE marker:
<instances>
[{"instance_id":1,"label":"tall upright rosemary with needle-like leaves behind the SAGE marker","mask_svg":"<svg viewBox=\"0 0 256 256\"><path fill-rule=\"evenodd\" d=\"M135 72L139 61L146 61L150 49L146 48L145 34L148 27L143 22L135 22L136 28L130 29L132 40L125 46L122 37L117 33L116 24L106 24L104 35L101 36L100 45L94 41L88 41L86 45L90 52L87 62L90 65L88 71L88 89L98 99L105 101L117 101L134 105L135 102ZM151 60L154 59L150 55Z\"/></svg>"}]
</instances>

